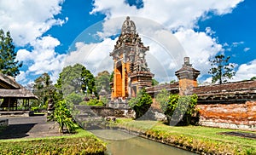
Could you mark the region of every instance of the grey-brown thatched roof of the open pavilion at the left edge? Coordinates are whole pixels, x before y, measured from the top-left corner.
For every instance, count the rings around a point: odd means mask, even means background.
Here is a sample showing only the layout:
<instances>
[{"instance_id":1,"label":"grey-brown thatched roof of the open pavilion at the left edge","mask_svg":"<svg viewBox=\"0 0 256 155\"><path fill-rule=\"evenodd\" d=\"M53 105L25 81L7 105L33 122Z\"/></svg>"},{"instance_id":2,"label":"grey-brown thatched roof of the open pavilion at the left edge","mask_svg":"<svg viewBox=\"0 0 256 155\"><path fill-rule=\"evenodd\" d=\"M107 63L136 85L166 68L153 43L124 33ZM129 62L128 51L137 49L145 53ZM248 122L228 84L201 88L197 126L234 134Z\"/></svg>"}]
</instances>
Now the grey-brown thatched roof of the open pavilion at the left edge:
<instances>
[{"instance_id":1,"label":"grey-brown thatched roof of the open pavilion at the left edge","mask_svg":"<svg viewBox=\"0 0 256 155\"><path fill-rule=\"evenodd\" d=\"M33 95L31 91L17 83L14 78L5 76L0 72L0 98L4 97L38 99L38 96Z\"/></svg>"}]
</instances>

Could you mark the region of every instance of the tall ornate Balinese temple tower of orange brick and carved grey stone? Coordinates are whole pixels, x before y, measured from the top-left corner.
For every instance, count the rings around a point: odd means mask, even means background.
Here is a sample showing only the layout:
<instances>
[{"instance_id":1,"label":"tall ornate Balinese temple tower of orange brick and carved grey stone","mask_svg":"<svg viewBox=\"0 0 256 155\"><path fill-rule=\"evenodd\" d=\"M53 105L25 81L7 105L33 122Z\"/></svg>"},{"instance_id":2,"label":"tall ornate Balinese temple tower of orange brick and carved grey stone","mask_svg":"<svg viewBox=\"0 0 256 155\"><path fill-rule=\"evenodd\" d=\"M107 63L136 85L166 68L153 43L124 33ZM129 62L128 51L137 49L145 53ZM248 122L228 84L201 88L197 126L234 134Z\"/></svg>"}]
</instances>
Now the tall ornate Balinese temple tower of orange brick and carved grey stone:
<instances>
[{"instance_id":1,"label":"tall ornate Balinese temple tower of orange brick and carved grey stone","mask_svg":"<svg viewBox=\"0 0 256 155\"><path fill-rule=\"evenodd\" d=\"M135 23L126 17L121 34L114 45L112 99L126 99L137 95L143 87L152 85L152 74L145 59L149 47L143 45Z\"/></svg>"}]
</instances>

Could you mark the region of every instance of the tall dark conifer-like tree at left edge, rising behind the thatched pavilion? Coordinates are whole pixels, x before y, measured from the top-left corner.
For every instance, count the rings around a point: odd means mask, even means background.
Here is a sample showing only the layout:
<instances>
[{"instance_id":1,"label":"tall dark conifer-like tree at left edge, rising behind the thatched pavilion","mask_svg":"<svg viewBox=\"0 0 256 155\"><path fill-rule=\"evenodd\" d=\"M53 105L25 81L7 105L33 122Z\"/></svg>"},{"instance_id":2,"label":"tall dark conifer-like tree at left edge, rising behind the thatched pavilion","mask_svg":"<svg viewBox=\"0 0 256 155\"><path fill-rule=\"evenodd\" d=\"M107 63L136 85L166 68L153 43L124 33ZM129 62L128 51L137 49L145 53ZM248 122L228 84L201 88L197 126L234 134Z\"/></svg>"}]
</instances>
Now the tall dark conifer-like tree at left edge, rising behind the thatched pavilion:
<instances>
[{"instance_id":1,"label":"tall dark conifer-like tree at left edge, rising behind the thatched pavilion","mask_svg":"<svg viewBox=\"0 0 256 155\"><path fill-rule=\"evenodd\" d=\"M10 32L6 32L5 35L2 29L0 29L0 54L0 72L16 77L20 73L22 62L15 60L17 54Z\"/></svg>"}]
</instances>

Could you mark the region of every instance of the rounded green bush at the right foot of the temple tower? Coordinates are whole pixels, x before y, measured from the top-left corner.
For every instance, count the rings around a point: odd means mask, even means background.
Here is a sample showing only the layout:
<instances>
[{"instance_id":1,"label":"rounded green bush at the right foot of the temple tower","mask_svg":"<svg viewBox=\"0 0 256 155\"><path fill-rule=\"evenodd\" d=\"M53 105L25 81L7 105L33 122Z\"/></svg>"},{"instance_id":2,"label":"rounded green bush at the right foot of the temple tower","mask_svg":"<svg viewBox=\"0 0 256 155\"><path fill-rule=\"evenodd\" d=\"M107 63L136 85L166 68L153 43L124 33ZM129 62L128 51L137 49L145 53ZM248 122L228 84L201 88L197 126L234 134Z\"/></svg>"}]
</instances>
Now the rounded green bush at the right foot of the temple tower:
<instances>
[{"instance_id":1,"label":"rounded green bush at the right foot of the temple tower","mask_svg":"<svg viewBox=\"0 0 256 155\"><path fill-rule=\"evenodd\" d=\"M146 89L139 90L136 97L128 100L129 106L136 112L136 118L141 118L148 112L152 103L153 100L151 96L146 93Z\"/></svg>"}]
</instances>

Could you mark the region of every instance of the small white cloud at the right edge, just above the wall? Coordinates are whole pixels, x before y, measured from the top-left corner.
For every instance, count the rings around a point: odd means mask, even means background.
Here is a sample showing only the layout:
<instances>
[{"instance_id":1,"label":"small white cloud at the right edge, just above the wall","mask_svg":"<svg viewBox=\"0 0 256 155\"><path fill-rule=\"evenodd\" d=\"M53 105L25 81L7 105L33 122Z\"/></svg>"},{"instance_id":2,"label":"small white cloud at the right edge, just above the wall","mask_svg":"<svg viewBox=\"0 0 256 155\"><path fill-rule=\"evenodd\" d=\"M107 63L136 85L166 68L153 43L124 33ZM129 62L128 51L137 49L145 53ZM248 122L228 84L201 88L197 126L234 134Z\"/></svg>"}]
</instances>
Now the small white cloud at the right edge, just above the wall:
<instances>
[{"instance_id":1,"label":"small white cloud at the right edge, just above the wall","mask_svg":"<svg viewBox=\"0 0 256 155\"><path fill-rule=\"evenodd\" d=\"M256 77L256 60L252 60L247 64L241 64L237 71L235 77L231 81L241 81Z\"/></svg>"}]
</instances>

